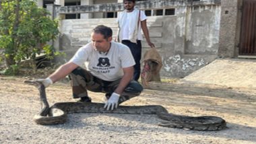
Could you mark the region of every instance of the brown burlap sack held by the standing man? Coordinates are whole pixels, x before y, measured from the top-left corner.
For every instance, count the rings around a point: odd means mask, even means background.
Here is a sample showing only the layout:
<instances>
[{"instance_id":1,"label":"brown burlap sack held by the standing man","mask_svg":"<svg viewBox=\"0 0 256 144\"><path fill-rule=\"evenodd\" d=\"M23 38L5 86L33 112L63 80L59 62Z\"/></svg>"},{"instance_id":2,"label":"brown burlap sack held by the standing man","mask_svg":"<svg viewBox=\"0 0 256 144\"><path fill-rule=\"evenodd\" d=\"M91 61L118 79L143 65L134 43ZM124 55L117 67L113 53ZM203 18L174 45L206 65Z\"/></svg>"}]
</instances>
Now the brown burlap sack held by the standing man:
<instances>
[{"instance_id":1,"label":"brown burlap sack held by the standing man","mask_svg":"<svg viewBox=\"0 0 256 144\"><path fill-rule=\"evenodd\" d=\"M143 87L148 87L149 81L161 81L160 70L162 59L156 48L150 48L143 56L143 69L141 72L141 83Z\"/></svg>"}]
</instances>

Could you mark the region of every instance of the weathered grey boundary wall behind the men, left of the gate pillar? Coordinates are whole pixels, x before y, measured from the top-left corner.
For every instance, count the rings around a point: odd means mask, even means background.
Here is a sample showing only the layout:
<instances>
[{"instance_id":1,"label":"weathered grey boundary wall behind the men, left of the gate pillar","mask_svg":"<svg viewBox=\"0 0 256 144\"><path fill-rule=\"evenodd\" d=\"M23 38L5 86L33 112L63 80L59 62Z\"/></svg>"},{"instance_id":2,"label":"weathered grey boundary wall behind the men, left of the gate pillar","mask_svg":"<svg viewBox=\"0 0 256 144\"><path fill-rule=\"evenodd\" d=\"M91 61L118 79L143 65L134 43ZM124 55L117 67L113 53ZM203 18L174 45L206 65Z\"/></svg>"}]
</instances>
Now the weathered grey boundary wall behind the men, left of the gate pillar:
<instances>
[{"instance_id":1,"label":"weathered grey boundary wall behind the men, left of the gate pillar","mask_svg":"<svg viewBox=\"0 0 256 144\"><path fill-rule=\"evenodd\" d=\"M218 55L220 5L177 5L175 11L175 15L147 20L150 38L162 57L162 77L185 77ZM90 42L90 32L98 24L113 28L115 36L115 18L61 21L60 50L67 53L66 61L79 46ZM142 46L143 52L149 48L145 38Z\"/></svg>"}]
</instances>

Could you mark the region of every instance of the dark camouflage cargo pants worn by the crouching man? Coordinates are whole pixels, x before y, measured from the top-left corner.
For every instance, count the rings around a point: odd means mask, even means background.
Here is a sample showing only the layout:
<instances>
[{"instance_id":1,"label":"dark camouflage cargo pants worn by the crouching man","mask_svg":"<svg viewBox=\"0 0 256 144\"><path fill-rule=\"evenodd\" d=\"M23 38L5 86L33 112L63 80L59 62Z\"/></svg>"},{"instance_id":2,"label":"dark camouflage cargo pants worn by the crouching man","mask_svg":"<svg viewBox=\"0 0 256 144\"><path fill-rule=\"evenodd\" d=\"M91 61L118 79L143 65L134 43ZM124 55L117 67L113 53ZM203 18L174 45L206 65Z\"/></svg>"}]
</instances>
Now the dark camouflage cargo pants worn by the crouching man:
<instances>
[{"instance_id":1,"label":"dark camouflage cargo pants worn by the crouching man","mask_svg":"<svg viewBox=\"0 0 256 144\"><path fill-rule=\"evenodd\" d=\"M110 98L121 81L121 79L116 81L104 81L98 77L94 77L90 71L86 71L86 69L82 69L81 67L74 69L69 77L71 79L73 98L88 97L87 90L105 93L106 98ZM130 81L120 95L119 104L130 98L139 96L142 90L143 87L137 81Z\"/></svg>"}]
</instances>

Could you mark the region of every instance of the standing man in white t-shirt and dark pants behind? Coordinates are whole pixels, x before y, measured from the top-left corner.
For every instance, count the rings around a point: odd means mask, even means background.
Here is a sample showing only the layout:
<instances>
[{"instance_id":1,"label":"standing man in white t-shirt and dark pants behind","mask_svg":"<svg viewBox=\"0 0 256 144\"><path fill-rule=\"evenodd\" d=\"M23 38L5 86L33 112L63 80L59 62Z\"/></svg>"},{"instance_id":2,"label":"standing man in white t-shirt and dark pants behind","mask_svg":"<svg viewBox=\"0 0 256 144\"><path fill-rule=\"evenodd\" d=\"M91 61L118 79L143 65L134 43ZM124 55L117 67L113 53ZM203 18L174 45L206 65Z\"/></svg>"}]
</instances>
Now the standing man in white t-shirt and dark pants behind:
<instances>
[{"instance_id":1,"label":"standing man in white t-shirt and dark pants behind","mask_svg":"<svg viewBox=\"0 0 256 144\"><path fill-rule=\"evenodd\" d=\"M119 31L117 32L117 40L127 45L135 60L133 79L137 81L140 75L141 60L141 28L143 34L150 47L154 44L150 41L150 35L147 28L146 15L144 11L135 8L135 0L124 0L125 10L118 17Z\"/></svg>"}]
</instances>

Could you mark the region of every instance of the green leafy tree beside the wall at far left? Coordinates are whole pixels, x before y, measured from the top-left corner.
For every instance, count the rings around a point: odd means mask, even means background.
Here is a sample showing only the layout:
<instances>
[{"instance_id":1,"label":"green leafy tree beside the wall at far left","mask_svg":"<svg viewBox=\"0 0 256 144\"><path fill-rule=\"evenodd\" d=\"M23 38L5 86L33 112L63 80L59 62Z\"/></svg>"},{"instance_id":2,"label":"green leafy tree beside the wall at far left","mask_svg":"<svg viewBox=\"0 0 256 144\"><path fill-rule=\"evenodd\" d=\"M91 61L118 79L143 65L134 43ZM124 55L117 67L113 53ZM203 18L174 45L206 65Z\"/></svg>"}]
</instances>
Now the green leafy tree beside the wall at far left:
<instances>
[{"instance_id":1,"label":"green leafy tree beside the wall at far left","mask_svg":"<svg viewBox=\"0 0 256 144\"><path fill-rule=\"evenodd\" d=\"M54 54L53 46L46 44L59 34L57 20L38 7L32 0L1 0L0 49L7 67L32 59L35 68L36 54L42 50L48 57Z\"/></svg>"}]
</instances>

